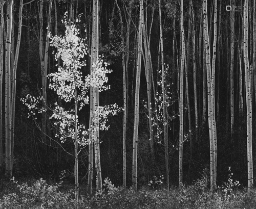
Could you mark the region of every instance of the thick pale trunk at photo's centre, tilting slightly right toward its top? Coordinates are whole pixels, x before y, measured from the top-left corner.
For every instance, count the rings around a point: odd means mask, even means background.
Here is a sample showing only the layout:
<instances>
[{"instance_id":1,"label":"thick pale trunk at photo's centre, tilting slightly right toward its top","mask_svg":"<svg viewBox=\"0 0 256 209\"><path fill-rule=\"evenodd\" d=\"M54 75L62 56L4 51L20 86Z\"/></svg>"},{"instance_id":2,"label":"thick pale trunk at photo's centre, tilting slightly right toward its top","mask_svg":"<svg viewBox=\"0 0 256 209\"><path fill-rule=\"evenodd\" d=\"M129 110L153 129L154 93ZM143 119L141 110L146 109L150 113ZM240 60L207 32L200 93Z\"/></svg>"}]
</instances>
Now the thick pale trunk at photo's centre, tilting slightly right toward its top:
<instances>
[{"instance_id":1,"label":"thick pale trunk at photo's centre, tilting slightly right toward its top","mask_svg":"<svg viewBox=\"0 0 256 209\"><path fill-rule=\"evenodd\" d=\"M133 134L133 188L137 190L137 158L138 158L138 129L139 129L139 93L140 93L140 71L141 71L141 53L142 53L142 36L144 24L143 0L140 0L140 22L138 34L138 57L136 72L135 88L135 105L134 105L134 134Z\"/></svg>"}]
</instances>

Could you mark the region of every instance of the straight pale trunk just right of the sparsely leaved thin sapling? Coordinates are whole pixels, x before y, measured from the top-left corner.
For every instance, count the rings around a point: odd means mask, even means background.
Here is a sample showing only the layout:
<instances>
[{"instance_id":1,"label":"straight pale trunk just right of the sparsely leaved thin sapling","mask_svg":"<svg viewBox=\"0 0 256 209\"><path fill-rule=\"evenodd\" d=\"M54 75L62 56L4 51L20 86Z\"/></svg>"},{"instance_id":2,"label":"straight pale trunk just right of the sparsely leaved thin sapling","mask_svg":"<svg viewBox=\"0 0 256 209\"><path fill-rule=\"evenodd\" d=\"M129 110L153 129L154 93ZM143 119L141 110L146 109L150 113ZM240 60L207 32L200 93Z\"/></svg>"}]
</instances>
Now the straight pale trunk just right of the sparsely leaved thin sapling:
<instances>
[{"instance_id":1,"label":"straight pale trunk just right of the sparsely leaved thin sapling","mask_svg":"<svg viewBox=\"0 0 256 209\"><path fill-rule=\"evenodd\" d=\"M179 115L180 115L180 134L179 134L179 189L182 188L183 178L183 83L184 83L184 62L185 62L185 34L183 27L183 0L180 1L180 27L181 27L181 64L180 64L180 96L179 96Z\"/></svg>"}]
</instances>

